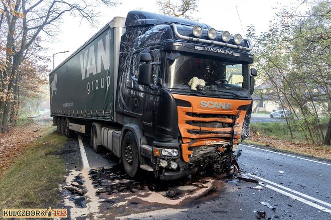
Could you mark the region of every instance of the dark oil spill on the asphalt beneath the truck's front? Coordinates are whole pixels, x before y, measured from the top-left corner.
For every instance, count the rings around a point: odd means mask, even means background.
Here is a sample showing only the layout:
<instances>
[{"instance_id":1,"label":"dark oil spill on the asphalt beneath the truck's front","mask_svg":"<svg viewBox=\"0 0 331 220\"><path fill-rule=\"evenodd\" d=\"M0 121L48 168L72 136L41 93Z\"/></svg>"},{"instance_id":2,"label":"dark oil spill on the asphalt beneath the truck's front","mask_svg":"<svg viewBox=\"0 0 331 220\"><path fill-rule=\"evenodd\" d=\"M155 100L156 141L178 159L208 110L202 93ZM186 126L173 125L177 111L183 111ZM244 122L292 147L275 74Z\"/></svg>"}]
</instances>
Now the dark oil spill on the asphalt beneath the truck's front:
<instances>
[{"instance_id":1,"label":"dark oil spill on the asphalt beneath the truck's front","mask_svg":"<svg viewBox=\"0 0 331 220\"><path fill-rule=\"evenodd\" d=\"M148 174L132 179L122 165L115 165L90 170L89 175L105 218L166 208L189 208L218 198L224 190L223 178L205 173L175 181L159 181ZM169 190L173 195L169 196Z\"/></svg>"}]
</instances>

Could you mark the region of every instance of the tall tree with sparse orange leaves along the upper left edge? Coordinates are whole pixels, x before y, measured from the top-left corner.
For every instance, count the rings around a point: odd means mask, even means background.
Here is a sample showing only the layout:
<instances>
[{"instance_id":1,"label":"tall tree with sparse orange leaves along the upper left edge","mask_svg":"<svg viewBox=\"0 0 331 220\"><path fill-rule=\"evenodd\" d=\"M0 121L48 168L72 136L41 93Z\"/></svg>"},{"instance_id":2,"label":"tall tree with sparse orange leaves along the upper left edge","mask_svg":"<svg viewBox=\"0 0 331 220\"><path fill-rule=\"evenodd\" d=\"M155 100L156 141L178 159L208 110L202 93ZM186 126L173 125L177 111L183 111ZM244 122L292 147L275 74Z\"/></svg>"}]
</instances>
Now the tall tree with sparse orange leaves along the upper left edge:
<instances>
[{"instance_id":1,"label":"tall tree with sparse orange leaves along the upper left edge","mask_svg":"<svg viewBox=\"0 0 331 220\"><path fill-rule=\"evenodd\" d=\"M30 46L41 33L54 37L63 15L96 21L96 4L115 6L113 0L1 0L0 6L0 130L7 126L17 72Z\"/></svg>"}]
</instances>

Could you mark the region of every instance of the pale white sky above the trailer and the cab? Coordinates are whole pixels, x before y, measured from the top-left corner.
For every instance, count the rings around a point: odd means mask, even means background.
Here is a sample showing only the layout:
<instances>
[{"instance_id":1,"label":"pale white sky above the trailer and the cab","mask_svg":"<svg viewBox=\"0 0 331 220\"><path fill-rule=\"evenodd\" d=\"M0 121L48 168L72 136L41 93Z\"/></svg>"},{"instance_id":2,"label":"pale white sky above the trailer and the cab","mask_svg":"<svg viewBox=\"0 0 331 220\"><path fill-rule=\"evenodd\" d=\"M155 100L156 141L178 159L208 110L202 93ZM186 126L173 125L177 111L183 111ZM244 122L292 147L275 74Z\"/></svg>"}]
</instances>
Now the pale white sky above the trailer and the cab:
<instances>
[{"instance_id":1,"label":"pale white sky above the trailer and the cab","mask_svg":"<svg viewBox=\"0 0 331 220\"><path fill-rule=\"evenodd\" d=\"M118 0L122 2L116 7L100 7L97 10L99 17L96 27L92 27L87 21L78 17L66 15L59 25L59 31L55 40L45 42L47 48L45 55L53 61L53 53L67 51L55 55L55 67L70 56L92 37L99 29L107 24L113 17L126 17L130 10L142 9L144 11L160 13L157 0ZM269 21L273 19L277 8L296 2L296 0L199 0L198 11L193 13L199 18L199 22L208 24L216 30L227 30L231 34L240 33L242 29L253 24L257 33L268 30ZM237 9L240 15L240 25ZM49 68L53 62L48 63Z\"/></svg>"}]
</instances>

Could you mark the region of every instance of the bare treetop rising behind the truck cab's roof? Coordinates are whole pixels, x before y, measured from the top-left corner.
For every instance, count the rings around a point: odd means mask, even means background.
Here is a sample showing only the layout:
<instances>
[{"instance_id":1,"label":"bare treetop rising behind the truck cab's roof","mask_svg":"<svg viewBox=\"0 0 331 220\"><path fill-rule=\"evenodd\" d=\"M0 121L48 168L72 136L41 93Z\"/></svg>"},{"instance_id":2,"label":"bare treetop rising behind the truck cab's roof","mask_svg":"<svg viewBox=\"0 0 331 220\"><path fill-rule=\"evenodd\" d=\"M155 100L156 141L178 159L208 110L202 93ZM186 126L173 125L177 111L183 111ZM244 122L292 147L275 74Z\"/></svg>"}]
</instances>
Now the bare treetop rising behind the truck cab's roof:
<instances>
[{"instance_id":1,"label":"bare treetop rising behind the truck cab's roof","mask_svg":"<svg viewBox=\"0 0 331 220\"><path fill-rule=\"evenodd\" d=\"M192 13L197 10L198 0L158 0L160 12L175 16L183 17L190 20L198 20L192 17Z\"/></svg>"}]
</instances>

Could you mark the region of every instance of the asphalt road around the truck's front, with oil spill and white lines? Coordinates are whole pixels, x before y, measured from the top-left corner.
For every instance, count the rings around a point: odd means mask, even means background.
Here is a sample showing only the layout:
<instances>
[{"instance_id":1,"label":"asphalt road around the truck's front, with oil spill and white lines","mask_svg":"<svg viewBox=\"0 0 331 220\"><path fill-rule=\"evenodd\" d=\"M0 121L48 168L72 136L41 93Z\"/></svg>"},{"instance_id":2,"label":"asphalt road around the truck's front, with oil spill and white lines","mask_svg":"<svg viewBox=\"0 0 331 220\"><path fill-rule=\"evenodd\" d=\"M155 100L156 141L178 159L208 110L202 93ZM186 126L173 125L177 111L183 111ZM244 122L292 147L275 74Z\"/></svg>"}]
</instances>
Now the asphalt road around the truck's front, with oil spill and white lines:
<instances>
[{"instance_id":1,"label":"asphalt road around the truck's front, with oil spill and white lines","mask_svg":"<svg viewBox=\"0 0 331 220\"><path fill-rule=\"evenodd\" d=\"M68 142L79 149L77 137ZM65 202L71 218L251 220L261 211L266 219L331 219L330 162L240 145L242 175L259 183L201 175L165 184L148 174L140 180L128 178L115 157L107 151L94 153L88 142L83 138L79 151L70 156L76 166L71 173L85 180L87 191L82 197L66 196L66 200L83 200L78 205ZM82 160L84 154L87 160ZM262 190L253 188L257 186ZM170 188L176 192L173 199L166 196Z\"/></svg>"}]
</instances>

